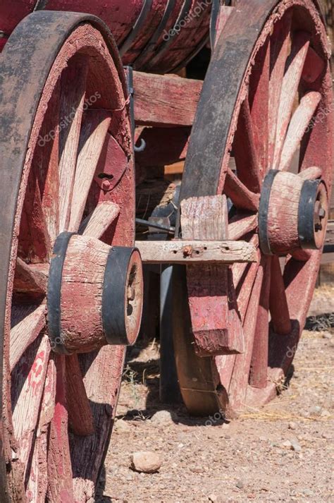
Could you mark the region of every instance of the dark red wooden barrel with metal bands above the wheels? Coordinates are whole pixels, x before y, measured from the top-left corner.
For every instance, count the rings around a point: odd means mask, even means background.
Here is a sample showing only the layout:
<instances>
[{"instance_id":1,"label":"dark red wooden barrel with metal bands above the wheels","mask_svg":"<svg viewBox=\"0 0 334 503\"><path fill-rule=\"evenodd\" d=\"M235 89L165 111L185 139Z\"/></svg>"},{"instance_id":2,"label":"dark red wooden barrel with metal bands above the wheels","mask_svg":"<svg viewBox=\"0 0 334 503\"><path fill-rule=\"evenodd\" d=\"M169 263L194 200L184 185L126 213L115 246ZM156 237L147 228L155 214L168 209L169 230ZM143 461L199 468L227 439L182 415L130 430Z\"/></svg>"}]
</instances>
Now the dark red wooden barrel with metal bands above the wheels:
<instances>
[{"instance_id":1,"label":"dark red wooden barrel with metal bands above the wheels","mask_svg":"<svg viewBox=\"0 0 334 503\"><path fill-rule=\"evenodd\" d=\"M211 4L212 0L4 0L0 32L6 39L34 10L90 13L109 26L125 65L168 73L185 66L206 43Z\"/></svg>"}]
</instances>

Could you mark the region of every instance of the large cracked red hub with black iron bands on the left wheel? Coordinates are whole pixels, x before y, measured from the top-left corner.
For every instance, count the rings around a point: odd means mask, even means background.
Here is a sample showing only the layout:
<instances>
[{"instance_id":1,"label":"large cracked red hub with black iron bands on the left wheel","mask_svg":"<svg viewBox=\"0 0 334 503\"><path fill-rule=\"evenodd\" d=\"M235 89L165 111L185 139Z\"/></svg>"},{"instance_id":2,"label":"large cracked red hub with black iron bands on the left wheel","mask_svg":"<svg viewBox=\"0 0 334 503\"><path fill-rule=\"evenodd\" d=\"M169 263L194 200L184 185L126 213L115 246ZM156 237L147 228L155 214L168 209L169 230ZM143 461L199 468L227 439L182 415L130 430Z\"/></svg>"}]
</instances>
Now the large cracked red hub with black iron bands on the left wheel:
<instances>
[{"instance_id":1,"label":"large cracked red hub with black iron bands on the left wheel","mask_svg":"<svg viewBox=\"0 0 334 503\"><path fill-rule=\"evenodd\" d=\"M135 344L142 316L142 261L137 248L108 246L64 232L54 245L48 283L51 347L87 353Z\"/></svg>"}]
</instances>

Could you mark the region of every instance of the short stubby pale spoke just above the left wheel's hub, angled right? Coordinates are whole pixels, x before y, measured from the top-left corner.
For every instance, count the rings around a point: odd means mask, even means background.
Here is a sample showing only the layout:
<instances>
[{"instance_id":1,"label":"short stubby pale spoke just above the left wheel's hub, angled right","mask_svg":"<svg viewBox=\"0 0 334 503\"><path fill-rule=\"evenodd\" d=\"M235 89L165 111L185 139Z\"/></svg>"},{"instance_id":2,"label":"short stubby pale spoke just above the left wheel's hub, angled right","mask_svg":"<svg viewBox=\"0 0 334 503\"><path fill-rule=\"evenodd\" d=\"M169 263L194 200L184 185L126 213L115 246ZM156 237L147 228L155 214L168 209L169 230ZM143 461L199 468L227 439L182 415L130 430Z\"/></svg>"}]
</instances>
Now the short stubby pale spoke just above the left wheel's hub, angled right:
<instances>
[{"instance_id":1,"label":"short stubby pale spoke just above the left wheel's hub, angled right","mask_svg":"<svg viewBox=\"0 0 334 503\"><path fill-rule=\"evenodd\" d=\"M120 207L116 202L100 202L97 207L85 218L80 225L79 234L101 238L120 213Z\"/></svg>"}]
</instances>

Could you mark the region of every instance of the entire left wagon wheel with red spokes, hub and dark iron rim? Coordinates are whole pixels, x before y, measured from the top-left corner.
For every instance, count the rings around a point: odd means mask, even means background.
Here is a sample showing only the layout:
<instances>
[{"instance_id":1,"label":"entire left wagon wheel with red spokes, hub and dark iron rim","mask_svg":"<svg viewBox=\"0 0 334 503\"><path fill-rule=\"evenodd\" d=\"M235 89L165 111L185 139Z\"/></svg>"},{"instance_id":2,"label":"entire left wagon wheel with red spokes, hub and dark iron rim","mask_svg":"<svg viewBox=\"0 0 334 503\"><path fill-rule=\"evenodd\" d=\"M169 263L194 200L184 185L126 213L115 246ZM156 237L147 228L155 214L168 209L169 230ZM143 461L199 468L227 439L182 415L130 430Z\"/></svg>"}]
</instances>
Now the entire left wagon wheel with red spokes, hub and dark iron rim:
<instances>
[{"instance_id":1,"label":"entire left wagon wheel with red spokes, hub and dark iron rim","mask_svg":"<svg viewBox=\"0 0 334 503\"><path fill-rule=\"evenodd\" d=\"M94 501L142 304L123 68L97 18L44 12L0 75L0 499Z\"/></svg>"}]
</instances>

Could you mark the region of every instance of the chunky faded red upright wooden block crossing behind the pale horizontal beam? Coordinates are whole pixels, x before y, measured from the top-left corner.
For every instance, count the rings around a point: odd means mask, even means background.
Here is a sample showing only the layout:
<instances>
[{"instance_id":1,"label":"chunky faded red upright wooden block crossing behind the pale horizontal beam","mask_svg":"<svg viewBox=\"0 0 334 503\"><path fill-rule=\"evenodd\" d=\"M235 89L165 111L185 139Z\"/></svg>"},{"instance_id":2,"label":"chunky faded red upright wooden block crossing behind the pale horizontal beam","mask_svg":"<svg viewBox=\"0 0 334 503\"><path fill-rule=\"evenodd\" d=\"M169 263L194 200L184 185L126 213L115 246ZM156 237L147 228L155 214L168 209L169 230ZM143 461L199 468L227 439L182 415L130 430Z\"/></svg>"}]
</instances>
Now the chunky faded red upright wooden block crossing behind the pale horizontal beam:
<instances>
[{"instance_id":1,"label":"chunky faded red upright wooden block crossing behind the pale horizontal beam","mask_svg":"<svg viewBox=\"0 0 334 503\"><path fill-rule=\"evenodd\" d=\"M205 238L209 240L208 243L213 242L210 240L226 238L228 210L225 195L183 200L181 229L183 238ZM226 246L225 251L226 248L229 247ZM195 255L199 254L195 252ZM242 353L244 337L232 270L221 264L188 265L187 291L197 355Z\"/></svg>"}]
</instances>

